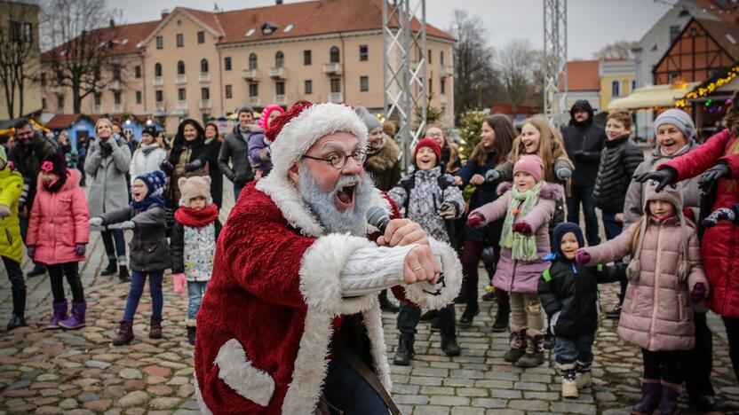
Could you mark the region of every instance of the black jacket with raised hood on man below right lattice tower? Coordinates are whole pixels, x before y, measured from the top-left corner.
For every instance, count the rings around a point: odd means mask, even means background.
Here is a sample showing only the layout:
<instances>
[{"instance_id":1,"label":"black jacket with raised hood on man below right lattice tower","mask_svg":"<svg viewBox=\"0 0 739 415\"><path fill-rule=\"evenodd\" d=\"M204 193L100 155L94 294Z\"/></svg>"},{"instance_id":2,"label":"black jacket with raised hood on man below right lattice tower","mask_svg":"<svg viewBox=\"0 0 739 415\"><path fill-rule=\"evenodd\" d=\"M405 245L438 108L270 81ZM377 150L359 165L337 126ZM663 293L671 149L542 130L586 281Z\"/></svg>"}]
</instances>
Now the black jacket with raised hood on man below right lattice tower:
<instances>
[{"instance_id":1,"label":"black jacket with raised hood on man below right lattice tower","mask_svg":"<svg viewBox=\"0 0 739 415\"><path fill-rule=\"evenodd\" d=\"M582 108L589 114L584 122L575 121L575 110ZM575 163L572 184L592 186L598 174L600 151L606 142L606 131L592 123L592 106L584 99L576 101L569 111L569 125L562 129L569 160Z\"/></svg>"}]
</instances>

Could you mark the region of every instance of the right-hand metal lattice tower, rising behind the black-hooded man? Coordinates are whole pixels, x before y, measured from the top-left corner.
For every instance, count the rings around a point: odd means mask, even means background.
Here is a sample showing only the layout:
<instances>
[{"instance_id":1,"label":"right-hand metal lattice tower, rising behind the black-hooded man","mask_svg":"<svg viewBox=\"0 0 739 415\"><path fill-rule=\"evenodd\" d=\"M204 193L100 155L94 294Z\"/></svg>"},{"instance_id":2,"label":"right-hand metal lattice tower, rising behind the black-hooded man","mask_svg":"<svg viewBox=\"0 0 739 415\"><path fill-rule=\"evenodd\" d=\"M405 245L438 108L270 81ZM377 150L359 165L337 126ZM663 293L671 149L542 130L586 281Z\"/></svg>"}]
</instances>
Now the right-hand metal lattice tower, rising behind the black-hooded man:
<instances>
[{"instance_id":1,"label":"right-hand metal lattice tower, rising behind the black-hooded man","mask_svg":"<svg viewBox=\"0 0 739 415\"><path fill-rule=\"evenodd\" d=\"M544 0L544 115L559 127L567 111L567 0Z\"/></svg>"}]
</instances>

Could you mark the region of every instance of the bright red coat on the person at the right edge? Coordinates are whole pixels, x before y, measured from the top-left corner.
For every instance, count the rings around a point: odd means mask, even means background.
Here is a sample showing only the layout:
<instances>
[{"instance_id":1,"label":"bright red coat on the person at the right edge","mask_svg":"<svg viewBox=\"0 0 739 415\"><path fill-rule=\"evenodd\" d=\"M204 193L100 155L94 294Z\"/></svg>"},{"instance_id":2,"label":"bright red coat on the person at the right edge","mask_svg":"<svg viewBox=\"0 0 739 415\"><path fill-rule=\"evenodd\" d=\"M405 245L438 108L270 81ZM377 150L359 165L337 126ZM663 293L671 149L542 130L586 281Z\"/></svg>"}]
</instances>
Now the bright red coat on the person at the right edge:
<instances>
[{"instance_id":1,"label":"bright red coat on the person at the right edge","mask_svg":"<svg viewBox=\"0 0 739 415\"><path fill-rule=\"evenodd\" d=\"M731 168L731 177L719 179L716 200L711 211L719 207L733 207L739 203L739 153L728 154L737 137L729 137L729 130L709 138L705 144L690 153L672 159L659 168L671 167L678 172L678 181L703 173L723 161ZM658 168L658 169L659 169ZM739 226L720 221L703 233L701 242L703 264L711 296L706 301L709 309L727 317L739 317Z\"/></svg>"}]
</instances>

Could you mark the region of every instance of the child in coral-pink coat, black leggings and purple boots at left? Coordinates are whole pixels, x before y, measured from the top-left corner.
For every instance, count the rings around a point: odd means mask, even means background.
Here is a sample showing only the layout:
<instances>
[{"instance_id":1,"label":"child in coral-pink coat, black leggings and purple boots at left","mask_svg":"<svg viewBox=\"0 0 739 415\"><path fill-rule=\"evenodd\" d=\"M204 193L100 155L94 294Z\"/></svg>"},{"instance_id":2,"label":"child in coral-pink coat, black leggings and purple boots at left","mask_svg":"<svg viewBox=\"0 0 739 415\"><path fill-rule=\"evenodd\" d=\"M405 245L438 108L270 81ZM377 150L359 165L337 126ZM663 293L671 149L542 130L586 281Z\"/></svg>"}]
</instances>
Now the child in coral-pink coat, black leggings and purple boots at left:
<instances>
[{"instance_id":1,"label":"child in coral-pink coat, black leggings and purple boots at left","mask_svg":"<svg viewBox=\"0 0 739 415\"><path fill-rule=\"evenodd\" d=\"M53 316L47 329L78 329L84 326L82 281L77 270L84 261L90 240L87 200L79 186L80 172L68 169L60 153L46 157L38 175L38 192L28 221L28 257L46 265L52 283ZM72 312L68 317L64 277L72 289Z\"/></svg>"}]
</instances>

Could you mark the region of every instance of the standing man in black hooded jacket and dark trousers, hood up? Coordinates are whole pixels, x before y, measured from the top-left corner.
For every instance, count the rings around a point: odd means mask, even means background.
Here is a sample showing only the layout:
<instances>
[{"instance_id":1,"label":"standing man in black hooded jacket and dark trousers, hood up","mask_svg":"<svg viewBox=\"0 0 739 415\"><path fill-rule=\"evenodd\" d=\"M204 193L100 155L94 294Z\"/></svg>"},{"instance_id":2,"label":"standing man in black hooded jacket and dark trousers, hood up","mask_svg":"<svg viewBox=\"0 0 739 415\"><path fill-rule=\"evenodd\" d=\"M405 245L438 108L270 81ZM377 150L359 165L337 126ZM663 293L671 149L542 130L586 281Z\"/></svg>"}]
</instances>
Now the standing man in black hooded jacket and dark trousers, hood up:
<instances>
[{"instance_id":1,"label":"standing man in black hooded jacket and dark trousers, hood up","mask_svg":"<svg viewBox=\"0 0 739 415\"><path fill-rule=\"evenodd\" d=\"M584 99L576 101L569 110L569 125L562 129L569 160L575 163L572 174L572 192L567 198L567 220L580 223L580 205L585 214L585 234L588 245L600 244L598 216L592 191L598 176L600 151L606 142L606 131L592 123L592 106Z\"/></svg>"}]
</instances>

